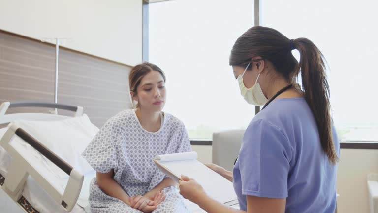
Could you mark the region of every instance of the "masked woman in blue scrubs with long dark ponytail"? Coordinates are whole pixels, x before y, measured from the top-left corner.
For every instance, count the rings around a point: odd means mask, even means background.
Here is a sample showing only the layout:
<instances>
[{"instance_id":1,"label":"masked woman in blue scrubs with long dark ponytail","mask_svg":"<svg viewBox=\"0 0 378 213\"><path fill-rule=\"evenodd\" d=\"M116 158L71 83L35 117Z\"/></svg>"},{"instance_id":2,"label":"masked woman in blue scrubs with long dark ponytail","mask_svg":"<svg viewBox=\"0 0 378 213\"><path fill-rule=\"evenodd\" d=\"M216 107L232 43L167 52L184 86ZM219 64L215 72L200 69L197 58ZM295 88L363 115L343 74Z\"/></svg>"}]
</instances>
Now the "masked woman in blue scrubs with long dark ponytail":
<instances>
[{"instance_id":1,"label":"masked woman in blue scrubs with long dark ponytail","mask_svg":"<svg viewBox=\"0 0 378 213\"><path fill-rule=\"evenodd\" d=\"M190 177L182 177L180 193L209 213L334 213L340 145L319 49L258 26L236 40L229 64L244 99L264 106L244 133L233 172L208 165L233 182L240 210L208 197Z\"/></svg>"}]
</instances>

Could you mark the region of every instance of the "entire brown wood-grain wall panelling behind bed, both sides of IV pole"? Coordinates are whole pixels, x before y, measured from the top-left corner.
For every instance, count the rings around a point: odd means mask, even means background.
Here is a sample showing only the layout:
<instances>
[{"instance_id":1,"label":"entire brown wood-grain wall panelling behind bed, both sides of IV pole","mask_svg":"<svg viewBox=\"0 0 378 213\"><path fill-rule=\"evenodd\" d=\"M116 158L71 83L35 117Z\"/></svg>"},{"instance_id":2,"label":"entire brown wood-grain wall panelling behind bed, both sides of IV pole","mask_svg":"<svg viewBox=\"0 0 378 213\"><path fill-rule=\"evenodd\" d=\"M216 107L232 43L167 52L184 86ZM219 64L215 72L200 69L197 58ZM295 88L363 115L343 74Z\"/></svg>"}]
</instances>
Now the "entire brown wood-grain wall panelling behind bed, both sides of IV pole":
<instances>
[{"instance_id":1,"label":"entire brown wood-grain wall panelling behind bed, both sides of IV pole","mask_svg":"<svg viewBox=\"0 0 378 213\"><path fill-rule=\"evenodd\" d=\"M60 48L58 103L83 106L101 127L119 111L130 108L128 73L131 67ZM55 46L0 30L0 103L54 102ZM47 112L51 109L15 108ZM59 111L60 114L72 114Z\"/></svg>"}]
</instances>

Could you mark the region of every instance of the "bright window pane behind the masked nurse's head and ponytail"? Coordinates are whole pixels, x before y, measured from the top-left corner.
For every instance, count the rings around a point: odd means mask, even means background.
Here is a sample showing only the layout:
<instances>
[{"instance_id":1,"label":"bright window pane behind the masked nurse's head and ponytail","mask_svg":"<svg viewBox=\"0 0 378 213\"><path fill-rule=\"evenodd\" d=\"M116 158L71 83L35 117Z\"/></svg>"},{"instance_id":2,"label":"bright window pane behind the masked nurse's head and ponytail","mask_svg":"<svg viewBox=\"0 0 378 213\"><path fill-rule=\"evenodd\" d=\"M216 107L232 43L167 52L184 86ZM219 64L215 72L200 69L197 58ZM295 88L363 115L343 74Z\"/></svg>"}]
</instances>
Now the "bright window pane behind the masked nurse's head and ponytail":
<instances>
[{"instance_id":1,"label":"bright window pane behind the masked nurse's head and ponytail","mask_svg":"<svg viewBox=\"0 0 378 213\"><path fill-rule=\"evenodd\" d=\"M262 26L312 40L326 58L341 141L378 142L377 1L264 0Z\"/></svg>"}]
</instances>

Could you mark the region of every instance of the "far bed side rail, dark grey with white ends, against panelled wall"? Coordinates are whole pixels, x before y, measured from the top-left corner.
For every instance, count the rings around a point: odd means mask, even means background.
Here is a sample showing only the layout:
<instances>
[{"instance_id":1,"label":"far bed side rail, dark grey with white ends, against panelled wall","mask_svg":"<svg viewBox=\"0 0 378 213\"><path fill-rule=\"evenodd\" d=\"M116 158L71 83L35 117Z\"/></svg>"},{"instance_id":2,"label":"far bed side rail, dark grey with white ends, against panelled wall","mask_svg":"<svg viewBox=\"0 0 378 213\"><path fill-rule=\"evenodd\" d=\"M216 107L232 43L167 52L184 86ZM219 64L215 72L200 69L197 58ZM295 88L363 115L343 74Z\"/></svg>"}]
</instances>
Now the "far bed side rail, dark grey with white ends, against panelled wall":
<instances>
[{"instance_id":1,"label":"far bed side rail, dark grey with white ends, against panelled wall","mask_svg":"<svg viewBox=\"0 0 378 213\"><path fill-rule=\"evenodd\" d=\"M83 115L83 107L81 106L70 106L57 103L48 102L4 102L0 105L0 116L4 115L8 108L16 107L46 107L46 108L57 108L68 111L75 112L75 117Z\"/></svg>"}]
</instances>

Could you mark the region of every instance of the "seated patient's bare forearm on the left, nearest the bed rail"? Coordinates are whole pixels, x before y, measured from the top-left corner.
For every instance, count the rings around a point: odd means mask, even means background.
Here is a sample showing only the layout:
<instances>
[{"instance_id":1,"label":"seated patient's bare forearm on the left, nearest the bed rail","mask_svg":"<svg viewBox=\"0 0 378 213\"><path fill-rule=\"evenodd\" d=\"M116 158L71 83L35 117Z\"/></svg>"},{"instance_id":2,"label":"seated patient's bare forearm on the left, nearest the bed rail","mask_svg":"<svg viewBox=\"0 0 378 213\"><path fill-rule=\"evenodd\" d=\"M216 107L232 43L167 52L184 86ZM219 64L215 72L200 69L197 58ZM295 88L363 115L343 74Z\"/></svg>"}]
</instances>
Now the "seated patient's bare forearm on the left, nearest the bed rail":
<instances>
[{"instance_id":1,"label":"seated patient's bare forearm on the left, nearest the bed rail","mask_svg":"<svg viewBox=\"0 0 378 213\"><path fill-rule=\"evenodd\" d=\"M129 196L125 190L113 178L97 178L97 185L107 195L122 200L127 205L130 205Z\"/></svg>"}]
</instances>

